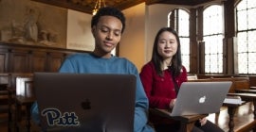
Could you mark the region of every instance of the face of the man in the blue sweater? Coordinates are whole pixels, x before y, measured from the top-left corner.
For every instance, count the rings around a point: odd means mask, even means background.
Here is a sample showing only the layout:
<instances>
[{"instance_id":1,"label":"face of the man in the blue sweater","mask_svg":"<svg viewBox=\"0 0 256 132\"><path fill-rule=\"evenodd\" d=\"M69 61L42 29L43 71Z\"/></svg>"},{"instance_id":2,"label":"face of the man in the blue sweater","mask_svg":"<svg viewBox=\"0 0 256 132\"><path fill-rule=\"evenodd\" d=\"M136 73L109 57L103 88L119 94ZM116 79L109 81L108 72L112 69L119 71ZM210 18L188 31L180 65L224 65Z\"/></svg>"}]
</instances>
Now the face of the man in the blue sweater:
<instances>
[{"instance_id":1,"label":"face of the man in the blue sweater","mask_svg":"<svg viewBox=\"0 0 256 132\"><path fill-rule=\"evenodd\" d=\"M92 33L95 38L94 53L106 58L111 57L111 51L118 45L121 37L122 24L113 16L101 16L98 25L94 25Z\"/></svg>"}]
</instances>

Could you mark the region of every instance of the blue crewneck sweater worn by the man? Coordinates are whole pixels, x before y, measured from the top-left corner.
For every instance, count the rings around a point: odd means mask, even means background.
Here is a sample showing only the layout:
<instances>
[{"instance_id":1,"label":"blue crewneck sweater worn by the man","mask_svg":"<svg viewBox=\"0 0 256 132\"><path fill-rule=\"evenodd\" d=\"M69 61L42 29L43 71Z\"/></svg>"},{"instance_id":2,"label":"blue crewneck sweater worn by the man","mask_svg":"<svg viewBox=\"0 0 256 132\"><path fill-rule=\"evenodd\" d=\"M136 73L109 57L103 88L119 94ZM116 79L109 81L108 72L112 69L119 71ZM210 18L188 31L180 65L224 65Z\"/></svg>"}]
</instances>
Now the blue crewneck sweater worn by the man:
<instances>
[{"instance_id":1,"label":"blue crewneck sweater worn by the man","mask_svg":"<svg viewBox=\"0 0 256 132\"><path fill-rule=\"evenodd\" d=\"M100 58L93 54L75 54L64 60L59 72L77 74L135 74L137 76L137 90L134 132L153 131L147 125L148 99L142 87L137 67L128 59L115 56L111 58ZM39 113L36 103L31 110L33 120L39 123Z\"/></svg>"}]
</instances>

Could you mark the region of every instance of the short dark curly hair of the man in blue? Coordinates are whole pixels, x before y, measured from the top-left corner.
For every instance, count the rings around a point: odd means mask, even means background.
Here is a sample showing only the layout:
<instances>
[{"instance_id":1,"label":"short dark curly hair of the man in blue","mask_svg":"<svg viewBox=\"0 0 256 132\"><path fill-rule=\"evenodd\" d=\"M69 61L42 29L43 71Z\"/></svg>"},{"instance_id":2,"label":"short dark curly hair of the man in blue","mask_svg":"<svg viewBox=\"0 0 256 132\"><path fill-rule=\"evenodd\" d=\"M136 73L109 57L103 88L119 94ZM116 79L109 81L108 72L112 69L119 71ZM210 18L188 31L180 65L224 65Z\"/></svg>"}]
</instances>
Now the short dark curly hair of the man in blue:
<instances>
[{"instance_id":1,"label":"short dark curly hair of the man in blue","mask_svg":"<svg viewBox=\"0 0 256 132\"><path fill-rule=\"evenodd\" d=\"M100 8L98 12L92 17L91 20L91 27L93 25L97 25L99 23L99 19L101 16L114 16L118 18L122 24L121 33L124 31L125 28L125 17L123 13L118 8L112 8L112 7L104 7Z\"/></svg>"}]
</instances>

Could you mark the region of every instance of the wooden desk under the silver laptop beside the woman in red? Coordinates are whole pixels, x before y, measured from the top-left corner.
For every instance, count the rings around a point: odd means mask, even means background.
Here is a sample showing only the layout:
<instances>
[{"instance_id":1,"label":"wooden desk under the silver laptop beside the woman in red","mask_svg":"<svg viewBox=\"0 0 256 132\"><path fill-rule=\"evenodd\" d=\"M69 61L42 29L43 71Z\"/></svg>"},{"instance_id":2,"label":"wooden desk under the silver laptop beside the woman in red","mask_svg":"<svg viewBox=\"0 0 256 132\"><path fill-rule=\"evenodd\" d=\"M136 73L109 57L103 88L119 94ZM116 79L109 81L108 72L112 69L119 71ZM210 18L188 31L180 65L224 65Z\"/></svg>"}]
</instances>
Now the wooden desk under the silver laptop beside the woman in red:
<instances>
[{"instance_id":1,"label":"wooden desk under the silver laptop beside the woman in red","mask_svg":"<svg viewBox=\"0 0 256 132\"><path fill-rule=\"evenodd\" d=\"M176 120L180 122L180 132L191 132L192 128L194 126L194 123L198 121L199 119L202 119L204 117L207 117L208 114L203 115L191 115L191 116L171 116L170 111L167 109L159 109L159 108L150 108L151 112L154 112L155 114L170 118L172 120Z\"/></svg>"}]
</instances>

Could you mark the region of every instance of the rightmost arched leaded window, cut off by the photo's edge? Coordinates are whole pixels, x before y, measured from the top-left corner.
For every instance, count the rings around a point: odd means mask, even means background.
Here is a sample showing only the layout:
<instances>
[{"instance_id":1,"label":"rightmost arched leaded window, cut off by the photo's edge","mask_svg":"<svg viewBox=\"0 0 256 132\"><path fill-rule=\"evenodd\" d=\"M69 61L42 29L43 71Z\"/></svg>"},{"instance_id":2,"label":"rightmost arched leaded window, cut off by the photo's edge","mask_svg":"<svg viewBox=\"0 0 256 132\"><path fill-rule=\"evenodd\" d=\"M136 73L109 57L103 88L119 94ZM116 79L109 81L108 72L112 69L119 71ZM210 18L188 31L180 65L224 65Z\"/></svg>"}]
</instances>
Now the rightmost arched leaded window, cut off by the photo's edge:
<instances>
[{"instance_id":1,"label":"rightmost arched leaded window, cut off by the photo's edge","mask_svg":"<svg viewBox=\"0 0 256 132\"><path fill-rule=\"evenodd\" d=\"M236 7L238 74L256 74L256 1L241 0Z\"/></svg>"}]
</instances>

